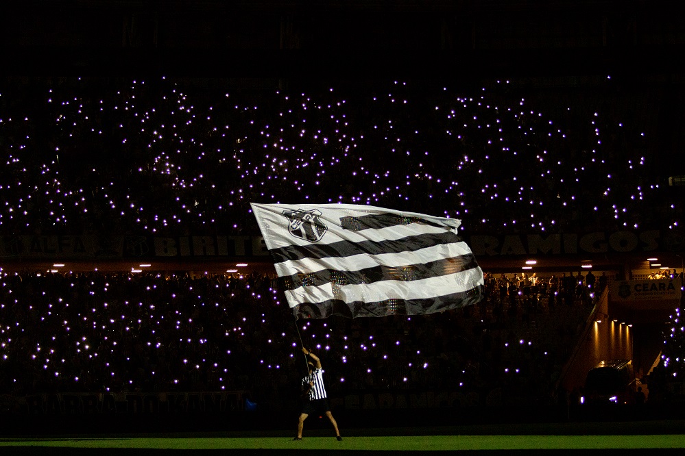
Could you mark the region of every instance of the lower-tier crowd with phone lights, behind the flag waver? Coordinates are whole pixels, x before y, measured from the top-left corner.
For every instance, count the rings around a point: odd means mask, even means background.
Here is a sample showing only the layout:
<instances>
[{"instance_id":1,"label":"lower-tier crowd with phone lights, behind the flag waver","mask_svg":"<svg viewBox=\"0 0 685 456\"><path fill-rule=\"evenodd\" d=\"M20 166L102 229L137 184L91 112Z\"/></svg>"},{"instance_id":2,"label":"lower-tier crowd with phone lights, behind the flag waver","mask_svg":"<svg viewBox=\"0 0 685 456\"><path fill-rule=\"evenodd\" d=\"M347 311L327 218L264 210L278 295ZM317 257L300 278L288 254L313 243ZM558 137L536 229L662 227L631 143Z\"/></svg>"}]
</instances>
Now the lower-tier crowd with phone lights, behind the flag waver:
<instances>
[{"instance_id":1,"label":"lower-tier crowd with phone lights, behind the flag waver","mask_svg":"<svg viewBox=\"0 0 685 456\"><path fill-rule=\"evenodd\" d=\"M594 290L547 281L486 273L476 306L296 322L264 275L5 274L0 393L246 390L275 407L296 400L301 338L332 396L498 390L551 401Z\"/></svg>"}]
</instances>

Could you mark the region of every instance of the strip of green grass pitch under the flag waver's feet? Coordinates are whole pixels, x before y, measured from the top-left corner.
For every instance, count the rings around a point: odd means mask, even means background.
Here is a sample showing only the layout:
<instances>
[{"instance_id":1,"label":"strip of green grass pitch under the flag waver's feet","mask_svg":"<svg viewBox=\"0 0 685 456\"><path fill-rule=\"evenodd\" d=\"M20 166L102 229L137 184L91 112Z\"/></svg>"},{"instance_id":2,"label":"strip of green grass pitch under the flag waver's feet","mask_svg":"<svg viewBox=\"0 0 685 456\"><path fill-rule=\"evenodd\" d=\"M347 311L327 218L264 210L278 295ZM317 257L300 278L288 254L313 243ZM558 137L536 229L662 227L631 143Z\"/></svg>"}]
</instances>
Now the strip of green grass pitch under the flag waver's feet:
<instances>
[{"instance_id":1,"label":"strip of green grass pitch under the flag waver's feet","mask_svg":"<svg viewBox=\"0 0 685 456\"><path fill-rule=\"evenodd\" d=\"M323 429L295 442L287 431L23 435L0 438L2 455L231 455L323 453L599 453L682 454L685 422L597 422L550 425L349 429L341 442Z\"/></svg>"}]
</instances>

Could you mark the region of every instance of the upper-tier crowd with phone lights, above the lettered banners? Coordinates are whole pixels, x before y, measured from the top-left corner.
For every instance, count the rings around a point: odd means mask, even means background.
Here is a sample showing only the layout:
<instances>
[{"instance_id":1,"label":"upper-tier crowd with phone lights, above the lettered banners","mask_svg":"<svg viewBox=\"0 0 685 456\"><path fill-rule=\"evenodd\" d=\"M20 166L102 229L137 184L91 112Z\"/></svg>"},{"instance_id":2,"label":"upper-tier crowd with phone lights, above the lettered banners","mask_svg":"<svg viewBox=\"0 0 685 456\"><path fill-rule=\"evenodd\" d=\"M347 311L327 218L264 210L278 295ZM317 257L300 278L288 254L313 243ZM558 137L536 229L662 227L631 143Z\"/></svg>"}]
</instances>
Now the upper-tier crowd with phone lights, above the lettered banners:
<instances>
[{"instance_id":1,"label":"upper-tier crowd with phone lights, above the lettered banners","mask_svg":"<svg viewBox=\"0 0 685 456\"><path fill-rule=\"evenodd\" d=\"M255 233L249 203L279 201L456 217L468 233L676 228L671 164L634 114L597 104L529 101L508 81L5 81L0 233Z\"/></svg>"}]
</instances>

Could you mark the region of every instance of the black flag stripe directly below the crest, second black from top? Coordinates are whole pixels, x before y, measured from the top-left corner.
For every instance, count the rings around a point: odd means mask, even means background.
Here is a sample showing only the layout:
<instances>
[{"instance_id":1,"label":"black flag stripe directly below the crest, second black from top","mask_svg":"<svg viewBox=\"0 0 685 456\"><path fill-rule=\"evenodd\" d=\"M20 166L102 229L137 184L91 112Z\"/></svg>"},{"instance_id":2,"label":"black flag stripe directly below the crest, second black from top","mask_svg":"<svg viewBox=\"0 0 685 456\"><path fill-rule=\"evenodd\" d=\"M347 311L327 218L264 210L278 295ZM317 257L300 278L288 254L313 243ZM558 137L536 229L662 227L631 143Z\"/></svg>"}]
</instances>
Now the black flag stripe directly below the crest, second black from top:
<instances>
[{"instance_id":1,"label":"black flag stripe directly below the crest, second black from top","mask_svg":"<svg viewBox=\"0 0 685 456\"><path fill-rule=\"evenodd\" d=\"M310 244L307 246L289 245L270 250L274 262L303 258L349 257L352 255L381 255L383 253L412 252L437 244L455 244L461 242L461 236L451 231L436 234L418 234L406 238L383 241L338 241L331 244Z\"/></svg>"}]
</instances>

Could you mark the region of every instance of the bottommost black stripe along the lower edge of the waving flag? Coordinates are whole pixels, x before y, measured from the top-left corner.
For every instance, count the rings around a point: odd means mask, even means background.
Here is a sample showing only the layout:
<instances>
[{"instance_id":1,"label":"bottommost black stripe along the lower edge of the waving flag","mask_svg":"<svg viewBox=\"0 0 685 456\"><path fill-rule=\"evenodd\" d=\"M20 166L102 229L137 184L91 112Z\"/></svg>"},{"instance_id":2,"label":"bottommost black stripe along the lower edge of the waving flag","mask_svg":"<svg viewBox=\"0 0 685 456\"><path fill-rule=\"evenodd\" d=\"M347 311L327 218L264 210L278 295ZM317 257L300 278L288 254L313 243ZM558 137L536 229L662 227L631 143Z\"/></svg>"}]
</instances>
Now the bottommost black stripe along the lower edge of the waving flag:
<instances>
[{"instance_id":1,"label":"bottommost black stripe along the lower edge of the waving flag","mask_svg":"<svg viewBox=\"0 0 685 456\"><path fill-rule=\"evenodd\" d=\"M323 303L302 303L293 307L295 319L299 318L327 318L329 316L380 317L391 315L422 315L459 309L467 305L474 305L481 301L483 286L479 285L466 292L435 296L423 299L387 299L385 301L364 302L354 301L346 303L339 299L331 299Z\"/></svg>"}]
</instances>

